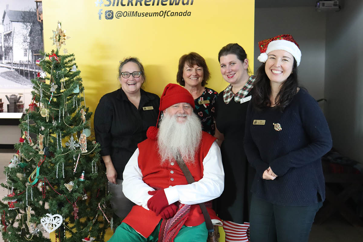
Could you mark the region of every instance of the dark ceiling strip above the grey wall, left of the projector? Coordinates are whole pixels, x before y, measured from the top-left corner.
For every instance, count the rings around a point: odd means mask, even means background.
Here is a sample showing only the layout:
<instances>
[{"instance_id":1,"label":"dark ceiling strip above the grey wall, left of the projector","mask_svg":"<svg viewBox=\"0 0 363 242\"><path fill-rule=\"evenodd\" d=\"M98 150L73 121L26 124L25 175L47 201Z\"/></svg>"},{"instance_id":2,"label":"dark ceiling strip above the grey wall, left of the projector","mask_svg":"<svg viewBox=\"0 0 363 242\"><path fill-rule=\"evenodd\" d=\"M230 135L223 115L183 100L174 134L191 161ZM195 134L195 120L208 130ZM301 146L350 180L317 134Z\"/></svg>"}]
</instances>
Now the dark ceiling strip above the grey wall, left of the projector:
<instances>
[{"instance_id":1,"label":"dark ceiling strip above the grey wall, left of the projector","mask_svg":"<svg viewBox=\"0 0 363 242\"><path fill-rule=\"evenodd\" d=\"M255 0L256 8L315 7L317 0Z\"/></svg>"}]
</instances>

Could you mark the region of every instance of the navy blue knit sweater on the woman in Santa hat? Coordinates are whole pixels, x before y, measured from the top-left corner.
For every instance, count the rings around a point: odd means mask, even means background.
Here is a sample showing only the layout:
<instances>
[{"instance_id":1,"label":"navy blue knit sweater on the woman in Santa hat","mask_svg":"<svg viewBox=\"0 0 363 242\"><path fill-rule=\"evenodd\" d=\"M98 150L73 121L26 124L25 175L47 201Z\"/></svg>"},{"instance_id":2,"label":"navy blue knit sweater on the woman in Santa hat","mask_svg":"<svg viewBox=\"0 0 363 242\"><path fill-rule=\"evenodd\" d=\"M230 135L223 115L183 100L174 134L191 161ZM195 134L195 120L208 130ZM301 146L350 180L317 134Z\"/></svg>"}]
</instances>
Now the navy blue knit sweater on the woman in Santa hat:
<instances>
[{"instance_id":1,"label":"navy blue knit sweater on the woman in Santa hat","mask_svg":"<svg viewBox=\"0 0 363 242\"><path fill-rule=\"evenodd\" d=\"M253 124L254 120L265 120L265 124ZM277 131L273 123L282 130ZM283 112L276 108L258 111L249 103L245 128L245 152L257 172L252 193L287 206L325 199L321 157L333 142L318 103L305 89L298 91ZM278 175L274 180L262 179L269 166Z\"/></svg>"}]
</instances>

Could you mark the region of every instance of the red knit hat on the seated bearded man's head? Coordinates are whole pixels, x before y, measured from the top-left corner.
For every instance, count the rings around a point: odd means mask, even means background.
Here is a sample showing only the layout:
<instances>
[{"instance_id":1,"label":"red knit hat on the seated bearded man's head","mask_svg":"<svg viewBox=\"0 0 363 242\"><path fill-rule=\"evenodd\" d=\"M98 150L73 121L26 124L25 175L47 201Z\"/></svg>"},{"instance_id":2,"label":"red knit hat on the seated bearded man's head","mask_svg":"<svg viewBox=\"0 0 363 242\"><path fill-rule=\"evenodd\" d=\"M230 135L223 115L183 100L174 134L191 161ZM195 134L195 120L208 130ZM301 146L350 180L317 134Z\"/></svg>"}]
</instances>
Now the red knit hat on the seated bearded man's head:
<instances>
[{"instance_id":1,"label":"red knit hat on the seated bearded man's head","mask_svg":"<svg viewBox=\"0 0 363 242\"><path fill-rule=\"evenodd\" d=\"M159 110L164 111L175 103L189 103L193 109L195 108L193 96L187 89L177 84L169 83L161 95Z\"/></svg>"}]
</instances>

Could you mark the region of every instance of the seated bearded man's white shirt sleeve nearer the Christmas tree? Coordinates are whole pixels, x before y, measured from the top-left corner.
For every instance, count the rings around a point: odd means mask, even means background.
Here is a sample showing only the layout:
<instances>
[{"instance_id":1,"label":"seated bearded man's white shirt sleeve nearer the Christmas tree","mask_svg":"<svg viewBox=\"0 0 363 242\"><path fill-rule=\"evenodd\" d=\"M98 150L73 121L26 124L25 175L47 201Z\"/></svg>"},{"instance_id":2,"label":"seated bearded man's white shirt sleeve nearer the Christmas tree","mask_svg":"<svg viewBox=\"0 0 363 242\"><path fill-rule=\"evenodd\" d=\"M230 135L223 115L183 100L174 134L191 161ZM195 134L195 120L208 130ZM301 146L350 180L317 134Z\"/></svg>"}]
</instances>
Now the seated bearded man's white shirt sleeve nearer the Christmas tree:
<instances>
[{"instance_id":1,"label":"seated bearded man's white shirt sleeve nearer the Christmas tree","mask_svg":"<svg viewBox=\"0 0 363 242\"><path fill-rule=\"evenodd\" d=\"M147 201L152 197L147 192L154 191L153 188L148 186L142 180L142 173L138 164L139 148L136 149L134 154L125 166L123 171L122 192L136 205L143 206L144 209L149 210Z\"/></svg>"}]
</instances>

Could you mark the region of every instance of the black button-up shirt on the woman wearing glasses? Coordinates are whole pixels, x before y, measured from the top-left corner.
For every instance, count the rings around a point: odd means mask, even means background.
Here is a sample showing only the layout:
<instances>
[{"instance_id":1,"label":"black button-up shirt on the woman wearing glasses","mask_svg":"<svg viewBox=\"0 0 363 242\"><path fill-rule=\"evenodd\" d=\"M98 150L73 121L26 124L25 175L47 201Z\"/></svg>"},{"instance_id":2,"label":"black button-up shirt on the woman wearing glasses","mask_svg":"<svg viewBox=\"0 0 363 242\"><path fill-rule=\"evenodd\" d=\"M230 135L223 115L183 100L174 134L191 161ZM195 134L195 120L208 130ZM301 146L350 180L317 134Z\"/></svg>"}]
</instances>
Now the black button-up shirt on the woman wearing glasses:
<instances>
[{"instance_id":1,"label":"black button-up shirt on the woman wearing glasses","mask_svg":"<svg viewBox=\"0 0 363 242\"><path fill-rule=\"evenodd\" d=\"M147 129L155 126L158 119L158 95L142 89L140 93L139 109L120 88L105 94L94 113L94 131L96 141L101 144L101 156L111 156L117 178L121 180L137 144L146 139Z\"/></svg>"}]
</instances>

